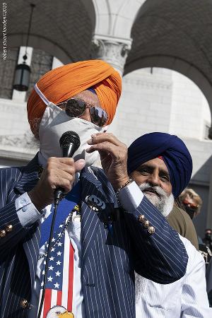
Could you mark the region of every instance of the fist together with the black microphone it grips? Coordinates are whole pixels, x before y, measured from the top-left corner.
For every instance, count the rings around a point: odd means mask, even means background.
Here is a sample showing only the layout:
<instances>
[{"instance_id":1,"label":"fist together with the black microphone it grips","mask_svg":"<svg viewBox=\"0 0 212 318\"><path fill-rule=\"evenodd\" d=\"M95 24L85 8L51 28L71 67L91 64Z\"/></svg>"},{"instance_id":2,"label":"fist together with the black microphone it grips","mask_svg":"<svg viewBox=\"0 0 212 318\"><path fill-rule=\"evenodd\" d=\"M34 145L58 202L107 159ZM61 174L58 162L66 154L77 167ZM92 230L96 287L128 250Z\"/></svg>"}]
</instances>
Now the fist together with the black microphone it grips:
<instances>
[{"instance_id":1,"label":"fist together with the black microphone it grips","mask_svg":"<svg viewBox=\"0 0 212 318\"><path fill-rule=\"evenodd\" d=\"M28 192L38 211L54 203L55 196L59 198L61 194L71 191L76 172L81 171L86 164L83 159L75 163L73 158L67 158L80 146L79 136L74 131L66 131L61 136L60 146L64 158L49 158L40 180L35 188Z\"/></svg>"}]
</instances>

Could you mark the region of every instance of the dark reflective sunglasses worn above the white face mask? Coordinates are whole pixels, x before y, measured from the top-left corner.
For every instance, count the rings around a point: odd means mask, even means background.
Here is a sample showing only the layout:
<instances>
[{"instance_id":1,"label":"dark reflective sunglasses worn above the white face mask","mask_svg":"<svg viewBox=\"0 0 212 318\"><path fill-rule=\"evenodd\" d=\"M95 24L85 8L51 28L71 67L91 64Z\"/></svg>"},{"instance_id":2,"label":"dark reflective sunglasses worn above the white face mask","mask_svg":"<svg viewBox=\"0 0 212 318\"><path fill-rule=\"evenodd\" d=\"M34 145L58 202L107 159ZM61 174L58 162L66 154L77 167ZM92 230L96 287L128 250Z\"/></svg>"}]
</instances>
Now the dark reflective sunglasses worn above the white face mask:
<instances>
[{"instance_id":1,"label":"dark reflective sunglasses worn above the white face mask","mask_svg":"<svg viewBox=\"0 0 212 318\"><path fill-rule=\"evenodd\" d=\"M83 100L79 100L78 98L70 98L66 102L57 104L57 106L65 110L69 117L81 117L85 112L86 107L89 107L90 118L93 124L103 127L107 122L107 112L105 112L105 110L102 110L100 107L90 105Z\"/></svg>"}]
</instances>

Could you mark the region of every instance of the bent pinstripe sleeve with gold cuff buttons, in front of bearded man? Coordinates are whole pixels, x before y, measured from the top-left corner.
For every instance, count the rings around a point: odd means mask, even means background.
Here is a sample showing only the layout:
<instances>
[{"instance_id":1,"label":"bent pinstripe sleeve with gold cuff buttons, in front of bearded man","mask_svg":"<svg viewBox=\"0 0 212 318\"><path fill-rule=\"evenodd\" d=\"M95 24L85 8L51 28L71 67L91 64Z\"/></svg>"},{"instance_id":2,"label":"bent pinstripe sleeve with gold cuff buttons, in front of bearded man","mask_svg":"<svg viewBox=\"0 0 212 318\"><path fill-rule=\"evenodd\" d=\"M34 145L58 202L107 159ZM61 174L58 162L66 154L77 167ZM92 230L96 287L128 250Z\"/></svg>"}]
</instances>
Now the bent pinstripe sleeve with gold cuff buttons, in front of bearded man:
<instances>
[{"instance_id":1,"label":"bent pinstripe sleeve with gold cuff buttons, in front of bearded man","mask_svg":"<svg viewBox=\"0 0 212 318\"><path fill-rule=\"evenodd\" d=\"M141 215L155 228L153 234L139 222ZM178 233L146 196L134 211L124 211L124 218L134 243L137 273L163 284L173 283L184 276L188 260L186 249Z\"/></svg>"}]
</instances>

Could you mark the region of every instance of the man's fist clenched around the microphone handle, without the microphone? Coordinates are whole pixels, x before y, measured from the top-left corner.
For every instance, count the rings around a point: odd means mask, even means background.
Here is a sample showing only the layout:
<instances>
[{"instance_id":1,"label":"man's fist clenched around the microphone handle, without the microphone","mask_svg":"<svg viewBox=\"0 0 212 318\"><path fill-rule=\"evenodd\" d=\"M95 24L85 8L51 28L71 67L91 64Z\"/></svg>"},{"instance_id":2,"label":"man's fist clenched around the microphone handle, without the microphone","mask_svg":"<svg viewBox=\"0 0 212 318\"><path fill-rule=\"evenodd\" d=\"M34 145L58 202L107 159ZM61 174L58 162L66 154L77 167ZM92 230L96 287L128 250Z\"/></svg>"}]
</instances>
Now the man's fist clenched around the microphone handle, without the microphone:
<instances>
[{"instance_id":1,"label":"man's fist clenched around the microphone handle, without the microphone","mask_svg":"<svg viewBox=\"0 0 212 318\"><path fill-rule=\"evenodd\" d=\"M55 189L62 188L65 194L71 191L75 173L82 170L85 164L83 159L74 163L73 158L49 158L40 180L35 188L28 192L37 210L41 211L54 202Z\"/></svg>"}]
</instances>

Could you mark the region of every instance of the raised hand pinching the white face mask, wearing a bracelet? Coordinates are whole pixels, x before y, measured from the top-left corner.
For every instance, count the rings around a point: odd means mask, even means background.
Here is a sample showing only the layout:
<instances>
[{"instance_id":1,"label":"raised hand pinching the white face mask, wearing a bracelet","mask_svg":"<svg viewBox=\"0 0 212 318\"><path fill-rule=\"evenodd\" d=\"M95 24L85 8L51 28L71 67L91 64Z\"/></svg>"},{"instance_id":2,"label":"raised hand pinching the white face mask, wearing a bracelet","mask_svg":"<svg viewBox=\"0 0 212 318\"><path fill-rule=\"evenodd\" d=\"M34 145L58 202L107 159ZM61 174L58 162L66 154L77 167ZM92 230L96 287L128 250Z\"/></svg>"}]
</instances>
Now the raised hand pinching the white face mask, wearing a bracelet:
<instances>
[{"instance_id":1,"label":"raised hand pinching the white face mask, wearing a bracelet","mask_svg":"<svg viewBox=\"0 0 212 318\"><path fill-rule=\"evenodd\" d=\"M126 167L126 145L109 133L94 134L91 138L88 141L88 145L92 146L86 151L88 153L93 153L93 151L100 153L102 168L107 178L114 190L119 189L129 180Z\"/></svg>"}]
</instances>

